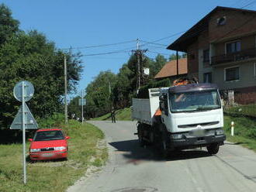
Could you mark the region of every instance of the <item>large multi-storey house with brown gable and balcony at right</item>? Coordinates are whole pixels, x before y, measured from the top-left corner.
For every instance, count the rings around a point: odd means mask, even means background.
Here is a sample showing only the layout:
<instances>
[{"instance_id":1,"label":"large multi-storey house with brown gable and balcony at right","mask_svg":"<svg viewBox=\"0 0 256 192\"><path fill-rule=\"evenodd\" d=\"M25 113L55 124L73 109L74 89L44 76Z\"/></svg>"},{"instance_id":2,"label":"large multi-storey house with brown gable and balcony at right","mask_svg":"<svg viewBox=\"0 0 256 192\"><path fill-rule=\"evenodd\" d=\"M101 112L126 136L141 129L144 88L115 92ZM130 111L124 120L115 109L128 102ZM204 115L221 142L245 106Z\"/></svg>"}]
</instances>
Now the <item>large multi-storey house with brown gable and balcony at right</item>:
<instances>
[{"instance_id":1,"label":"large multi-storey house with brown gable and balcony at right","mask_svg":"<svg viewBox=\"0 0 256 192\"><path fill-rule=\"evenodd\" d=\"M256 11L218 6L167 49L188 54L189 77L256 101Z\"/></svg>"}]
</instances>

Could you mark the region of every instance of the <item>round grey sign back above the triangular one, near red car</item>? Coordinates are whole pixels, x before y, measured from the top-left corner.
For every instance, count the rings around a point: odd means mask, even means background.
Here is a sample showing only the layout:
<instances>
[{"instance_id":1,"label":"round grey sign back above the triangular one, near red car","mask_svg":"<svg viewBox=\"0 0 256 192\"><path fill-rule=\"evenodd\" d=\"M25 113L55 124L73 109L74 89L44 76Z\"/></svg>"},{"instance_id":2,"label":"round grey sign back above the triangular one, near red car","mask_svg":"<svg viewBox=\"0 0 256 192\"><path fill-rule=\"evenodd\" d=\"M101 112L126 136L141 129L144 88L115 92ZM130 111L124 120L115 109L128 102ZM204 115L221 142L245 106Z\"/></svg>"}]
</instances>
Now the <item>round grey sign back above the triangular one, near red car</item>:
<instances>
[{"instance_id":1,"label":"round grey sign back above the triangular one, near red car","mask_svg":"<svg viewBox=\"0 0 256 192\"><path fill-rule=\"evenodd\" d=\"M29 101L34 95L34 86L29 81L19 81L13 88L14 97L22 101L22 83L24 83L24 100Z\"/></svg>"}]
</instances>

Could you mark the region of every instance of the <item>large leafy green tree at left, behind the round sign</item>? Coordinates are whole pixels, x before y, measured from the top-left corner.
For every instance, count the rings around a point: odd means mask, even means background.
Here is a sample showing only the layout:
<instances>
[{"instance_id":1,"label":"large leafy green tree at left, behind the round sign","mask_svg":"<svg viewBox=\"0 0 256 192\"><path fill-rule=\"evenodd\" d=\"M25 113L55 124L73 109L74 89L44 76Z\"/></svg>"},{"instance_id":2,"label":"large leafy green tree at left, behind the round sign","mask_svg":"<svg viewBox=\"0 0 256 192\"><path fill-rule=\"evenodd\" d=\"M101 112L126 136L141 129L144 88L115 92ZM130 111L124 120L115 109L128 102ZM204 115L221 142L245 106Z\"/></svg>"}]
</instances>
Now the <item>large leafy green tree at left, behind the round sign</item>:
<instances>
[{"instance_id":1,"label":"large leafy green tree at left, behind the round sign","mask_svg":"<svg viewBox=\"0 0 256 192\"><path fill-rule=\"evenodd\" d=\"M81 60L79 55L65 54L71 92L81 77ZM12 95L18 81L30 81L35 87L28 105L36 118L63 110L64 52L57 50L46 36L37 31L20 31L2 44L0 58L1 127L9 127L18 111L20 103Z\"/></svg>"}]
</instances>

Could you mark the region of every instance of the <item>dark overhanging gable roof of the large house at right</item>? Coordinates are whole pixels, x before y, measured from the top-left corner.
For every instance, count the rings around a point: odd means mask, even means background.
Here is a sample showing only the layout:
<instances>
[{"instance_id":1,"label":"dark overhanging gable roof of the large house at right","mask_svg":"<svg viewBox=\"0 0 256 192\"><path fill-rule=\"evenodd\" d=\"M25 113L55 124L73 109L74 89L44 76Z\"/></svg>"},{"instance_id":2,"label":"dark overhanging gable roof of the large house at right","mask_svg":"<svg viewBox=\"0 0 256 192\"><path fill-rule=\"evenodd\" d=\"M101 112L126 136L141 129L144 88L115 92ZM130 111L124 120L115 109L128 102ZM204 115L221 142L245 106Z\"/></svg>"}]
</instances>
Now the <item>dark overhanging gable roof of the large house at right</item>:
<instances>
[{"instance_id":1,"label":"dark overhanging gable roof of the large house at right","mask_svg":"<svg viewBox=\"0 0 256 192\"><path fill-rule=\"evenodd\" d=\"M186 52L187 46L192 44L197 36L208 28L208 22L209 18L219 10L232 10L236 12L251 12L256 13L256 11L248 10L248 9L236 9L236 8L230 8L230 7L220 7L217 6L213 11L209 12L205 17L203 17L199 22L197 22L192 28L190 28L187 32L185 32L182 36L180 36L178 39L175 40L174 43L171 43L167 47L168 50L178 50L182 52Z\"/></svg>"}]
</instances>

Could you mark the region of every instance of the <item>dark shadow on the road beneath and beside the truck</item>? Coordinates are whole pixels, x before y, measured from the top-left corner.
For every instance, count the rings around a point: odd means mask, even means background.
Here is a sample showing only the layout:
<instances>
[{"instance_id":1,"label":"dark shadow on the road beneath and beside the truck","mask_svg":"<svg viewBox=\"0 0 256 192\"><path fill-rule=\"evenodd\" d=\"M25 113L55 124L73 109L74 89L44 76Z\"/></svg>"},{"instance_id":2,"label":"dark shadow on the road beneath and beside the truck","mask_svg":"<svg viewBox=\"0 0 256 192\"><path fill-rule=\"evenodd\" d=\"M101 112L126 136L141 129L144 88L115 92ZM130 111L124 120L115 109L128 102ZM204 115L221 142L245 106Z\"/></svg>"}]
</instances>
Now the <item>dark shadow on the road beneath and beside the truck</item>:
<instances>
[{"instance_id":1,"label":"dark shadow on the road beneath and beside the truck","mask_svg":"<svg viewBox=\"0 0 256 192\"><path fill-rule=\"evenodd\" d=\"M122 154L128 161L174 161L182 159L198 159L211 156L209 153L201 149L189 149L171 152L168 158L163 158L157 146L141 147L137 139L109 142L109 145L116 149L115 153Z\"/></svg>"}]
</instances>

